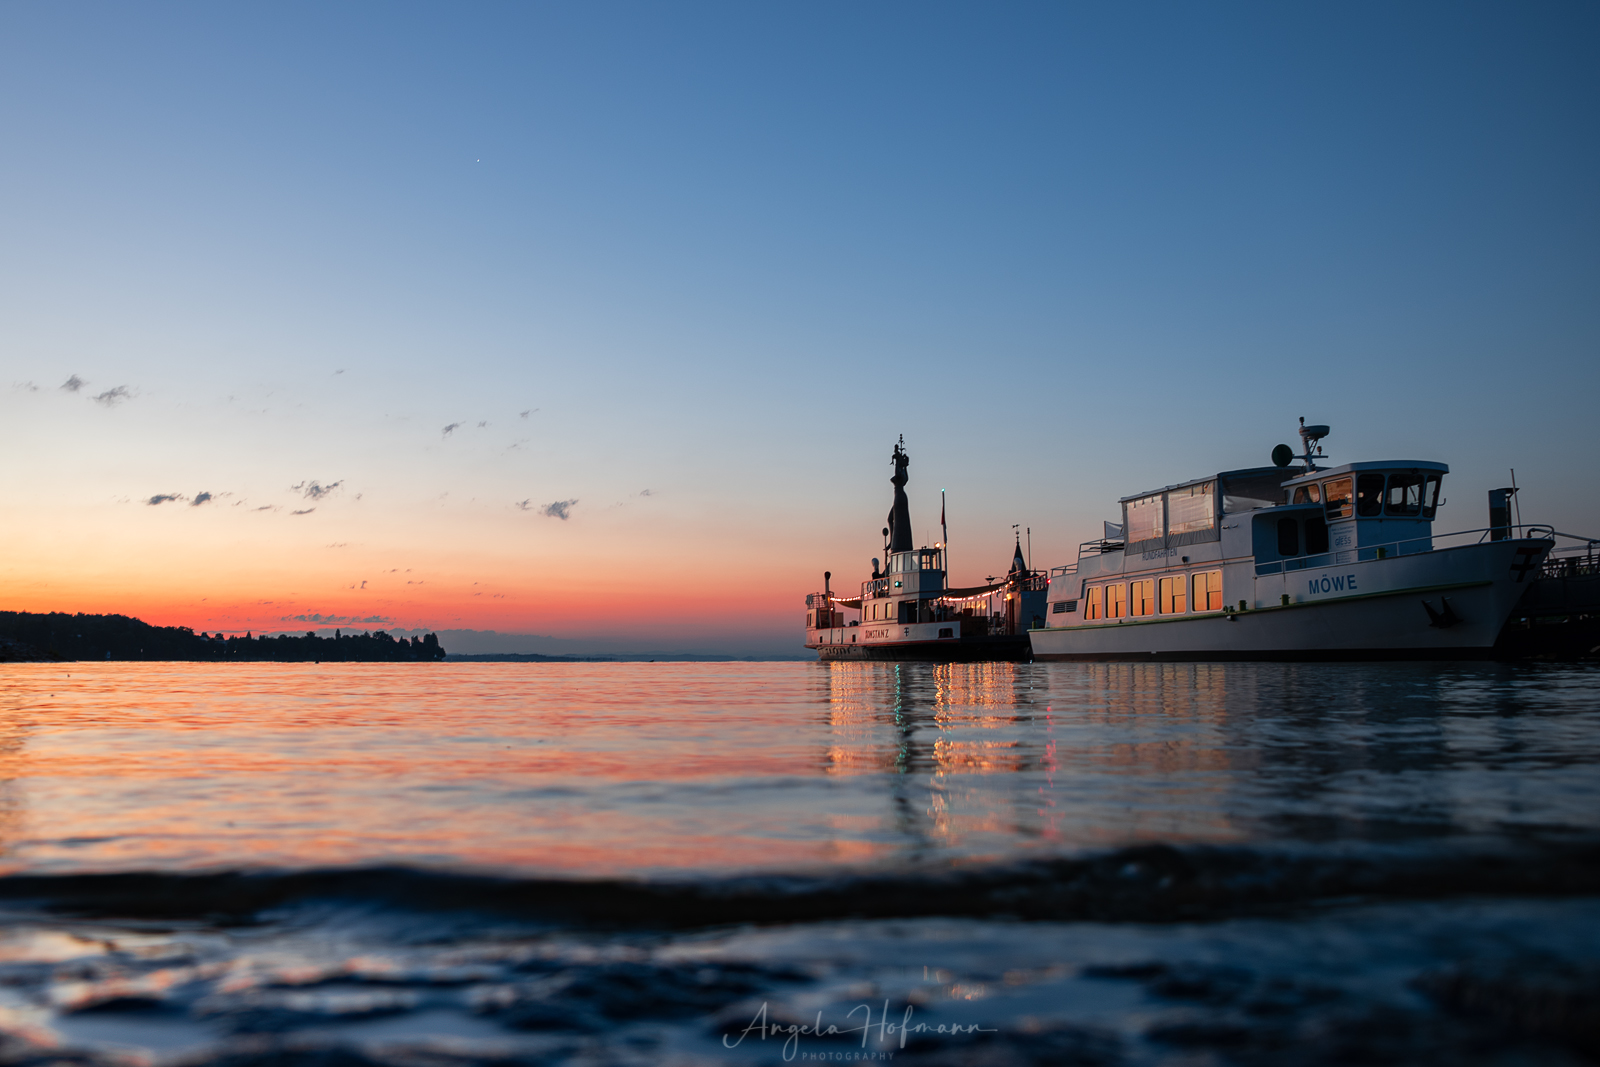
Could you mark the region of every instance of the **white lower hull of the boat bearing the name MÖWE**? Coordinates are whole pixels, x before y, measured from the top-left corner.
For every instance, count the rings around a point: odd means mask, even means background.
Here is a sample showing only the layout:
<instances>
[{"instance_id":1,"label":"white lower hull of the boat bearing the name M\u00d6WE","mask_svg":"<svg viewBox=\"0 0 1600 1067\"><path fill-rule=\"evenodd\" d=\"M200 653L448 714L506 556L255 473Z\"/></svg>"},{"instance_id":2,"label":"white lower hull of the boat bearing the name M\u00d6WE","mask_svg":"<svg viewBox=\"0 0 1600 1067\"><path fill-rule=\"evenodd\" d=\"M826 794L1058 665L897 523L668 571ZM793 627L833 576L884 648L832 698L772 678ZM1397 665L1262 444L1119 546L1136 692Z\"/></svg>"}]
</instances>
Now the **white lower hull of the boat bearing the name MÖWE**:
<instances>
[{"instance_id":1,"label":"white lower hull of the boat bearing the name M\u00d6WE","mask_svg":"<svg viewBox=\"0 0 1600 1067\"><path fill-rule=\"evenodd\" d=\"M1243 600L1243 611L1078 622L1029 638L1035 659L1486 656L1526 590L1528 563L1549 545L1493 541L1262 576L1253 560L1229 561L1226 600Z\"/></svg>"}]
</instances>

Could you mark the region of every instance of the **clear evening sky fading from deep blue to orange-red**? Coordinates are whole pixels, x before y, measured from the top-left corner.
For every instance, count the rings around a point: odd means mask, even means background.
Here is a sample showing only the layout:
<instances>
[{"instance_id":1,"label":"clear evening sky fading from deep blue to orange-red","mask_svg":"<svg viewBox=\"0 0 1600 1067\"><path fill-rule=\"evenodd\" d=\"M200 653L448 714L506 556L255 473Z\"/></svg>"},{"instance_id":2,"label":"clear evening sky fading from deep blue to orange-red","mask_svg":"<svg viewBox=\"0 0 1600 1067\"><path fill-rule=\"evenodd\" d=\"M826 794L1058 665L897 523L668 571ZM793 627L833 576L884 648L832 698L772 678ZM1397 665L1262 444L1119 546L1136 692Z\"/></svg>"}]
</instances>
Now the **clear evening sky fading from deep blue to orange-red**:
<instances>
[{"instance_id":1,"label":"clear evening sky fading from deep blue to orange-red","mask_svg":"<svg viewBox=\"0 0 1600 1067\"><path fill-rule=\"evenodd\" d=\"M0 609L800 653L906 435L954 579L1451 466L1600 531L1594 5L0 6ZM474 651L462 637L451 651Z\"/></svg>"}]
</instances>

